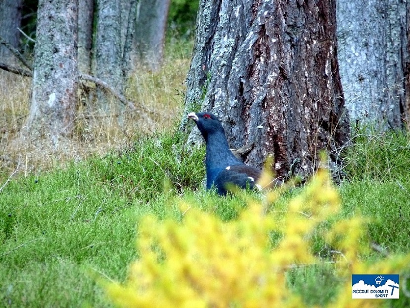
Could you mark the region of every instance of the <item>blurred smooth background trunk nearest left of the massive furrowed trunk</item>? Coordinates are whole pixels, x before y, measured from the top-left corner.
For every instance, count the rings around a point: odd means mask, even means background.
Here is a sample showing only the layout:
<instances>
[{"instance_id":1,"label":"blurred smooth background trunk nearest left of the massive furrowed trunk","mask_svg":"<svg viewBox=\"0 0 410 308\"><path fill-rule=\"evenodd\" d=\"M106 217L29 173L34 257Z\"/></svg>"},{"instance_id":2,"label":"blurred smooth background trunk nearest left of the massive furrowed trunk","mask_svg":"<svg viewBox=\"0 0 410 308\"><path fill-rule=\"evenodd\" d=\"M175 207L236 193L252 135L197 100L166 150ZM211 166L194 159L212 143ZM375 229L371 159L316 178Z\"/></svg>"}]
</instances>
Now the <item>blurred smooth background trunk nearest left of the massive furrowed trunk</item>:
<instances>
[{"instance_id":1,"label":"blurred smooth background trunk nearest left of the massive furrowed trunk","mask_svg":"<svg viewBox=\"0 0 410 308\"><path fill-rule=\"evenodd\" d=\"M140 0L135 40L137 58L152 70L161 64L170 0Z\"/></svg>"}]
</instances>

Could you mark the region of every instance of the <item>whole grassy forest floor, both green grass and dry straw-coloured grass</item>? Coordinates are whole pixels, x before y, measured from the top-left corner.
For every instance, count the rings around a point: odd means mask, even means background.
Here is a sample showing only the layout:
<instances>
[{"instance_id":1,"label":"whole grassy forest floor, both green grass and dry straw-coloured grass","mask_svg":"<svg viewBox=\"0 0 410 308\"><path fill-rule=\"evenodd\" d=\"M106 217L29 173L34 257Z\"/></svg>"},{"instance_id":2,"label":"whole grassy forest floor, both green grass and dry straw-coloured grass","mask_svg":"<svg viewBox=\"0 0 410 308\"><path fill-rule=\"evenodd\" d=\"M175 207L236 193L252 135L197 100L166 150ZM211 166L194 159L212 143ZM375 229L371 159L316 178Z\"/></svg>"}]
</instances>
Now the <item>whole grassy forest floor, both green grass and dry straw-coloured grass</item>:
<instances>
[{"instance_id":1,"label":"whole grassy forest floor, both green grass and dry straw-coloured grass","mask_svg":"<svg viewBox=\"0 0 410 308\"><path fill-rule=\"evenodd\" d=\"M187 136L176 130L190 46L174 44L168 50L163 69L135 75L127 93L156 111L150 115L154 125L131 119L124 128L110 126L116 121L84 120L72 152L64 157L30 160L25 159L29 153L13 152L12 138L28 113L30 85L24 79L1 83L0 307L113 307L100 280L126 280L130 264L139 258L137 227L147 215L180 221L184 202L229 223L249 200L263 203L264 195L252 192L221 198L205 191L204 148L187 147ZM387 270L393 256L410 251L409 133L375 136L363 130L353 141L344 154L346 178L335 186L340 210L305 238L316 262L286 273L289 292L305 307L331 307L342 286L351 283L336 268L335 252L343 251L320 235L337 221L363 217L362 237L352 246L363 248L360 262L370 268L385 262ZM10 177L18 159L19 171ZM269 215L287 212L305 189L279 192L269 203ZM400 300L367 307L410 307L410 282L403 279L410 267L398 273ZM351 299L351 293L345 297Z\"/></svg>"}]
</instances>

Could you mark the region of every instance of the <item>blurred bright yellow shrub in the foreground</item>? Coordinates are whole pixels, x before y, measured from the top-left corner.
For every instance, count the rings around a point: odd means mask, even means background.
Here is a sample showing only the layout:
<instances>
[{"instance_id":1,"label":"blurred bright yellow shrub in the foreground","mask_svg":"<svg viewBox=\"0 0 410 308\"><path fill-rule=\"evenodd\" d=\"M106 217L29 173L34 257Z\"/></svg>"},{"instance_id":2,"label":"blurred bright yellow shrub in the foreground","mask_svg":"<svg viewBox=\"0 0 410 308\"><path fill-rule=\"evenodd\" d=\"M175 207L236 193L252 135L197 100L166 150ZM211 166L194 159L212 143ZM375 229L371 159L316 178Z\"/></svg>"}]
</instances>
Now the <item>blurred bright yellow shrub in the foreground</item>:
<instances>
[{"instance_id":1,"label":"blurred bright yellow shrub in the foreground","mask_svg":"<svg viewBox=\"0 0 410 308\"><path fill-rule=\"evenodd\" d=\"M275 211L278 195L271 191L263 201L249 201L227 222L186 203L180 204L182 221L145 217L137 241L140 258L125 284L106 284L109 297L119 307L307 307L286 273L326 262L312 252L311 237L320 224L336 220L340 199L325 169L290 200L286 213ZM373 307L374 301L351 299L351 274L398 273L410 261L406 255L363 262L369 246L363 221L354 216L322 228L321 236L339 252L331 260L335 275L346 281L329 307ZM275 245L272 232L281 234Z\"/></svg>"}]
</instances>

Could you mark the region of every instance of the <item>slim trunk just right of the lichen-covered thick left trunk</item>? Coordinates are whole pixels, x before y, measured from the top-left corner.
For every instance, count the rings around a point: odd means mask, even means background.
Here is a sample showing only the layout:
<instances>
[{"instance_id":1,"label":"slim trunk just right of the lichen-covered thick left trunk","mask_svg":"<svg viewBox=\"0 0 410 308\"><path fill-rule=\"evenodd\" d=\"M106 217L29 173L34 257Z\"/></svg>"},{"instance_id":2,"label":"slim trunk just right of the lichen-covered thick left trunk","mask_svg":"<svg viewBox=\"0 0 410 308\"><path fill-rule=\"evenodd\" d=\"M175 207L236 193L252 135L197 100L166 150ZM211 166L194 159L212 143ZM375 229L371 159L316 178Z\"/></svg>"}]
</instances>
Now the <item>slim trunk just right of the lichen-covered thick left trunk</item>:
<instances>
[{"instance_id":1,"label":"slim trunk just right of the lichen-covered thick left trunk","mask_svg":"<svg viewBox=\"0 0 410 308\"><path fill-rule=\"evenodd\" d=\"M91 73L93 17L94 0L80 0L78 19L78 69L85 74Z\"/></svg>"}]
</instances>

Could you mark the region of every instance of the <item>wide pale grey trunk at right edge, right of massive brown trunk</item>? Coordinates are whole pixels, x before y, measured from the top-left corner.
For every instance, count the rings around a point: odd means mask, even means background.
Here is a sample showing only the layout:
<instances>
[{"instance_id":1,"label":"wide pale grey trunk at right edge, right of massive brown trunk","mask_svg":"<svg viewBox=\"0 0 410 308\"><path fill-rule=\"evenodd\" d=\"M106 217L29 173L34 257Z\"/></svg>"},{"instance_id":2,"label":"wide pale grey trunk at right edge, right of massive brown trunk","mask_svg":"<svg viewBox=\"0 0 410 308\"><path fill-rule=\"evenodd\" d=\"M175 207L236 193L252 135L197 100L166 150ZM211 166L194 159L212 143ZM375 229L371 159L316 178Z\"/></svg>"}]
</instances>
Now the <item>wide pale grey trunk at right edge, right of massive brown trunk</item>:
<instances>
[{"instance_id":1,"label":"wide pale grey trunk at right edge, right of massive brown trunk","mask_svg":"<svg viewBox=\"0 0 410 308\"><path fill-rule=\"evenodd\" d=\"M402 126L408 0L337 0L340 75L353 123Z\"/></svg>"}]
</instances>

